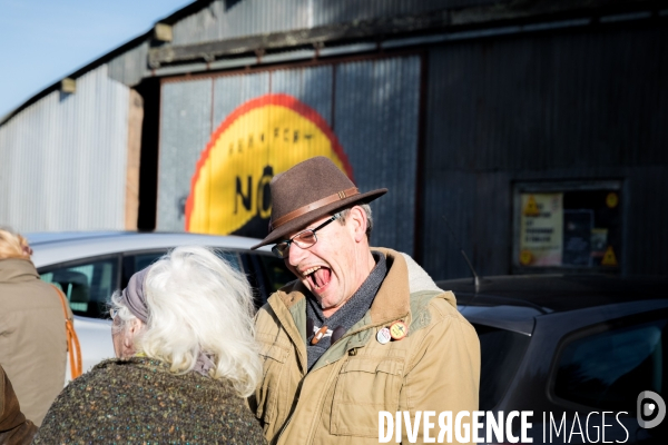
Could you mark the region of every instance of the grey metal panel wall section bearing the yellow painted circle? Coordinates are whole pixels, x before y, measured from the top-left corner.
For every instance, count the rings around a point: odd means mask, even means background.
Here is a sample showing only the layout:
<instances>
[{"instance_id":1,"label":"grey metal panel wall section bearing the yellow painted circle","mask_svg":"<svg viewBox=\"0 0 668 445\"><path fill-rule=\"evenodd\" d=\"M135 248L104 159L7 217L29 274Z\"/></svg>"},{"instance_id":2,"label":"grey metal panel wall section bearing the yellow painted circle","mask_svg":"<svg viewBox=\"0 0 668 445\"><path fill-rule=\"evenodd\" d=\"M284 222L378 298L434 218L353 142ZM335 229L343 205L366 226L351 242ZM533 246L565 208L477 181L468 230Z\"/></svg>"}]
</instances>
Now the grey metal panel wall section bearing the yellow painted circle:
<instances>
[{"instance_id":1,"label":"grey metal panel wall section bearing the yellow painted circle","mask_svg":"<svg viewBox=\"0 0 668 445\"><path fill-rule=\"evenodd\" d=\"M371 204L372 244L413 253L421 59L161 80L156 229L263 238L272 177L326 156Z\"/></svg>"}]
</instances>

